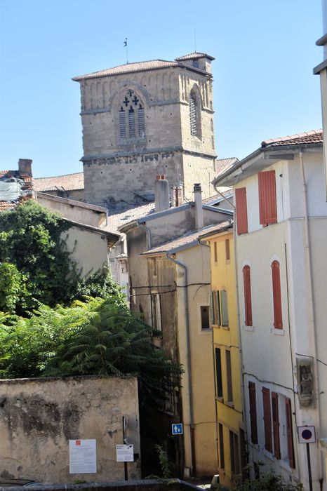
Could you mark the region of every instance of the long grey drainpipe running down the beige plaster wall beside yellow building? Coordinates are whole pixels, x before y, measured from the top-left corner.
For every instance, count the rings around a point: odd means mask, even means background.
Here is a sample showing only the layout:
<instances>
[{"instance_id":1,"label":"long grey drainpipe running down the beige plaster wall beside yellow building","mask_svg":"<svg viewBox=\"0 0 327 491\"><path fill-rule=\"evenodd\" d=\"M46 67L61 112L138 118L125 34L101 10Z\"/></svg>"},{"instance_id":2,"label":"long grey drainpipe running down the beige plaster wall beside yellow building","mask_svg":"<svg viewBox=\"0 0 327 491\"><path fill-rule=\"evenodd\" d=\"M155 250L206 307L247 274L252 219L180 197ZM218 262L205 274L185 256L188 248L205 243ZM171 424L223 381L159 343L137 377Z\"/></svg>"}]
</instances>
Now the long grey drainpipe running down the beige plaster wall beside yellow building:
<instances>
[{"instance_id":1,"label":"long grey drainpipe running down the beige plaster wall beside yellow building","mask_svg":"<svg viewBox=\"0 0 327 491\"><path fill-rule=\"evenodd\" d=\"M175 260L169 254L166 254L168 260L171 260L177 266L184 269L184 301L185 301L185 322L186 322L186 344L187 344L187 375L189 384L189 438L191 441L191 476L196 476L196 459L195 459L195 438L194 438L194 414L193 414L193 392L192 392L192 361L191 361L191 341L189 336L189 297L187 295L187 267L182 262Z\"/></svg>"}]
</instances>

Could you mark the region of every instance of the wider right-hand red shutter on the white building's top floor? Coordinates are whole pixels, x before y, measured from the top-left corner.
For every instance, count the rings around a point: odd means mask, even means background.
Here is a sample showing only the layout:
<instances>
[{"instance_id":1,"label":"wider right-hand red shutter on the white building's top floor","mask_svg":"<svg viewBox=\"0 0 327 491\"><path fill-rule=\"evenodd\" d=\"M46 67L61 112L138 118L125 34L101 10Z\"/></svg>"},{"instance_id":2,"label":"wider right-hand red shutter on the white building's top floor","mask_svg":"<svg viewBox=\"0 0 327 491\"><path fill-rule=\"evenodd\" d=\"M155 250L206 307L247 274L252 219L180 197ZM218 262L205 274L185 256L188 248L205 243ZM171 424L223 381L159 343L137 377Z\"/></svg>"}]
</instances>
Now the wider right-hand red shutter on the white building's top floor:
<instances>
[{"instance_id":1,"label":"wider right-hand red shutter on the white building's top floor","mask_svg":"<svg viewBox=\"0 0 327 491\"><path fill-rule=\"evenodd\" d=\"M260 224L277 222L275 171L258 173Z\"/></svg>"}]
</instances>

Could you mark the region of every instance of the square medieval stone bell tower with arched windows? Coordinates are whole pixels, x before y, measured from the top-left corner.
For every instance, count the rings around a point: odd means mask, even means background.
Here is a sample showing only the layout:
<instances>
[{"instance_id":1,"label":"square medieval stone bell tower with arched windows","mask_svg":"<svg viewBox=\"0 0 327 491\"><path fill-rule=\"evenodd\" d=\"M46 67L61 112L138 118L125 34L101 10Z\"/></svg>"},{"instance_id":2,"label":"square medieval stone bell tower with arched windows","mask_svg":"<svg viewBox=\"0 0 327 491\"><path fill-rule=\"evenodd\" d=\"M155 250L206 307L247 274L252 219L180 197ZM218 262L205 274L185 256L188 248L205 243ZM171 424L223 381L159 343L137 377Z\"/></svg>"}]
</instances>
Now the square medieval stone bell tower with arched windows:
<instances>
[{"instance_id":1,"label":"square medieval stone bell tower with arched windows","mask_svg":"<svg viewBox=\"0 0 327 491\"><path fill-rule=\"evenodd\" d=\"M156 175L193 199L215 194L212 56L192 53L102 70L81 84L85 199L125 208L154 199Z\"/></svg>"}]
</instances>

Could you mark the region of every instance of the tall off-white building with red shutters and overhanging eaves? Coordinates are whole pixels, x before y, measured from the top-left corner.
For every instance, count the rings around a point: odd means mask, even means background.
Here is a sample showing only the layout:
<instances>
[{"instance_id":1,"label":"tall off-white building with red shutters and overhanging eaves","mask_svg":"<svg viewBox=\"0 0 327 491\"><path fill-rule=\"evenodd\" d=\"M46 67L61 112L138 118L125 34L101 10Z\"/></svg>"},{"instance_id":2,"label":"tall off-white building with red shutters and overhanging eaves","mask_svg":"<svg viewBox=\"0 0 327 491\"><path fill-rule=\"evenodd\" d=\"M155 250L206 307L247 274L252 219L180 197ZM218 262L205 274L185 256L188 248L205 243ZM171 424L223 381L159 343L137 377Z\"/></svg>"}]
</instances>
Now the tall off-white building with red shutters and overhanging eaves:
<instances>
[{"instance_id":1,"label":"tall off-white building with red shutters and overhanging eaves","mask_svg":"<svg viewBox=\"0 0 327 491\"><path fill-rule=\"evenodd\" d=\"M250 462L326 490L327 204L322 130L262 142L216 180L236 198L236 278Z\"/></svg>"}]
</instances>

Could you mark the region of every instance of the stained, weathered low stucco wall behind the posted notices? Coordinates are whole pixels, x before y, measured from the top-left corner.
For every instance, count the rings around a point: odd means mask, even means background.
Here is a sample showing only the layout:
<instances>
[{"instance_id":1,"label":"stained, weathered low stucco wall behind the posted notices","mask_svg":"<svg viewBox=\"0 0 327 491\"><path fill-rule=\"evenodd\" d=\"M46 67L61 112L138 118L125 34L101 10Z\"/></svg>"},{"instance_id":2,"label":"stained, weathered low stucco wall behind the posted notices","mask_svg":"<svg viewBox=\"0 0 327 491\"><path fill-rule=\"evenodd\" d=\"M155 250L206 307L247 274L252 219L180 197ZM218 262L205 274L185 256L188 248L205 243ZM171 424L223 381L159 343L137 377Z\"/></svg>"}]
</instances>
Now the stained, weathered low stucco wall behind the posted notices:
<instances>
[{"instance_id":1,"label":"stained, weathered low stucco wall behind the posted notices","mask_svg":"<svg viewBox=\"0 0 327 491\"><path fill-rule=\"evenodd\" d=\"M135 462L128 477L140 478L140 431L136 377L67 377L0 382L0 476L41 483L124 480L116 445L126 436ZM96 439L97 473L69 474L69 440Z\"/></svg>"}]
</instances>

